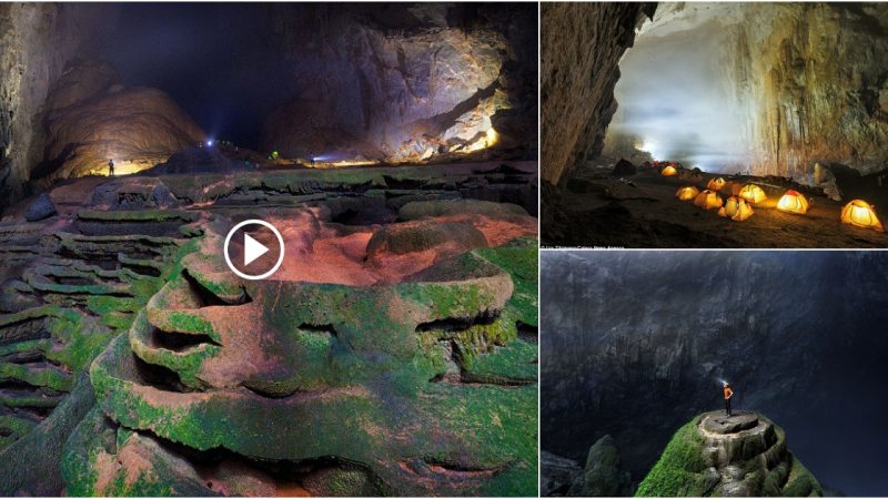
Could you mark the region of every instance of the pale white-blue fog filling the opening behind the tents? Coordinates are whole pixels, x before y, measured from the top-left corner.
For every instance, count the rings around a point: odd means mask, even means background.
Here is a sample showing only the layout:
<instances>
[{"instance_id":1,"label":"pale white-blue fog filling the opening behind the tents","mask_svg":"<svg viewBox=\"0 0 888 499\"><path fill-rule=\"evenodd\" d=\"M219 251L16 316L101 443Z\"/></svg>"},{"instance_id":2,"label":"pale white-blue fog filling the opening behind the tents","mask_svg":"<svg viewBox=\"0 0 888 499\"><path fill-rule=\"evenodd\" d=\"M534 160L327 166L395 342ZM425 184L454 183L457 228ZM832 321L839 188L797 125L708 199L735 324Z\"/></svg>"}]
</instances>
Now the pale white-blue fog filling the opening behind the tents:
<instances>
[{"instance_id":1,"label":"pale white-blue fog filling the opening behind the tents","mask_svg":"<svg viewBox=\"0 0 888 499\"><path fill-rule=\"evenodd\" d=\"M733 96L722 31L709 23L636 37L619 63L608 149L623 136L655 160L704 171L735 172L748 163L743 103Z\"/></svg>"}]
</instances>

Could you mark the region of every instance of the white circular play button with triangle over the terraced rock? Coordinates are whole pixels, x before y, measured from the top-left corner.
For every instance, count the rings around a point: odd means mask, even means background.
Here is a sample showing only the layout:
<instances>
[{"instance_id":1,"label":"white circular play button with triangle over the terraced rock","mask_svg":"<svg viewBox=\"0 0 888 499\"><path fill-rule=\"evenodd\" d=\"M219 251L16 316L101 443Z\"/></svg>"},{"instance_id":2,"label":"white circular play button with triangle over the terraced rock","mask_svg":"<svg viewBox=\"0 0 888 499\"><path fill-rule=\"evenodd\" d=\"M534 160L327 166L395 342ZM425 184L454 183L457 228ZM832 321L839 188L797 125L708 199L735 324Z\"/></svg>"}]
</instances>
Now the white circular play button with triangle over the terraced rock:
<instances>
[{"instance_id":1,"label":"white circular play button with triangle over the terraced rock","mask_svg":"<svg viewBox=\"0 0 888 499\"><path fill-rule=\"evenodd\" d=\"M274 225L262 220L245 220L225 236L225 263L245 279L264 279L284 261L284 240ZM241 263L234 265L234 262Z\"/></svg>"}]
</instances>

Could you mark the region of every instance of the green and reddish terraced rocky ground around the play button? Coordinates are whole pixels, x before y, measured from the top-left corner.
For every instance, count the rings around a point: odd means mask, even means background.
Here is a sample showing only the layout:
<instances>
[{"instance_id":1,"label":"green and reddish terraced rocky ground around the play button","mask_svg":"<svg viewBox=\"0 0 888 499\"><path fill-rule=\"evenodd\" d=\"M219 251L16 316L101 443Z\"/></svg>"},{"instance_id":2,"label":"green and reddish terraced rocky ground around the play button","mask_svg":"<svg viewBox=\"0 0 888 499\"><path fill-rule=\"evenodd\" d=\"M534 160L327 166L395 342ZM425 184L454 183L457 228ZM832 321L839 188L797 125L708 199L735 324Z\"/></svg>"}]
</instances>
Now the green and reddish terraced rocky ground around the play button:
<instances>
[{"instance_id":1,"label":"green and reddish terraced rocky ground around the play button","mask_svg":"<svg viewBox=\"0 0 888 499\"><path fill-rule=\"evenodd\" d=\"M0 492L534 495L535 169L84 177L13 206ZM223 262L246 218L283 233L270 279Z\"/></svg>"}]
</instances>

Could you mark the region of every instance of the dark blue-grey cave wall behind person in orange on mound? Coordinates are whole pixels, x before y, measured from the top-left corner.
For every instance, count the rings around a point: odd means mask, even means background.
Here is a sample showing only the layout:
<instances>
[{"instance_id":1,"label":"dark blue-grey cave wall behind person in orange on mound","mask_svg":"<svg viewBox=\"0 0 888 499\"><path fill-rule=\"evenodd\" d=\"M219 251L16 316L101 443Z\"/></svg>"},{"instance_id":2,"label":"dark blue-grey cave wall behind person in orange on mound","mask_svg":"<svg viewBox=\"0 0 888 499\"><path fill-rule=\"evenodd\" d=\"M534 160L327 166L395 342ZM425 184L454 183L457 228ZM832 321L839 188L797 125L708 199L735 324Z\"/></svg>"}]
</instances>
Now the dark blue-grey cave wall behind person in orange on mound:
<instances>
[{"instance_id":1,"label":"dark blue-grey cave wall behind person in orange on mound","mask_svg":"<svg viewBox=\"0 0 888 499\"><path fill-rule=\"evenodd\" d=\"M888 403L870 394L888 352L888 255L556 252L541 265L544 450L582 461L610 434L639 480L679 426L720 407L724 377L735 408L786 428L827 485L888 486L862 471L888 445L875 417Z\"/></svg>"}]
</instances>

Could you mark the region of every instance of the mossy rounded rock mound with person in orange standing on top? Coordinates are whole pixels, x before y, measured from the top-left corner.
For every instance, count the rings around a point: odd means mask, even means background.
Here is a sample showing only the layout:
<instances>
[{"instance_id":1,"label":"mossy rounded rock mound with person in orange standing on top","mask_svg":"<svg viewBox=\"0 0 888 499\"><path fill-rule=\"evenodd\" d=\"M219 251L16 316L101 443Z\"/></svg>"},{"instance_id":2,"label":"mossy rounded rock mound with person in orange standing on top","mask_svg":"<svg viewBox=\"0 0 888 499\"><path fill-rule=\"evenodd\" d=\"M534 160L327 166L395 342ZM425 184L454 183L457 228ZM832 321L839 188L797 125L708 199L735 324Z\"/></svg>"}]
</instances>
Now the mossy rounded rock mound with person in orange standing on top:
<instances>
[{"instance_id":1,"label":"mossy rounded rock mound with person in orange standing on top","mask_svg":"<svg viewBox=\"0 0 888 499\"><path fill-rule=\"evenodd\" d=\"M695 417L675 432L638 486L639 497L820 497L786 434L755 413Z\"/></svg>"}]
</instances>

